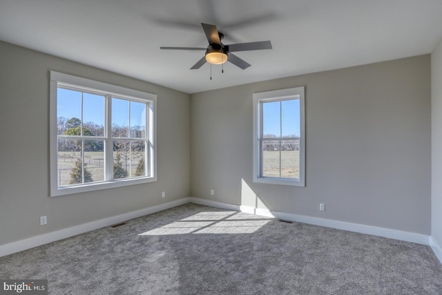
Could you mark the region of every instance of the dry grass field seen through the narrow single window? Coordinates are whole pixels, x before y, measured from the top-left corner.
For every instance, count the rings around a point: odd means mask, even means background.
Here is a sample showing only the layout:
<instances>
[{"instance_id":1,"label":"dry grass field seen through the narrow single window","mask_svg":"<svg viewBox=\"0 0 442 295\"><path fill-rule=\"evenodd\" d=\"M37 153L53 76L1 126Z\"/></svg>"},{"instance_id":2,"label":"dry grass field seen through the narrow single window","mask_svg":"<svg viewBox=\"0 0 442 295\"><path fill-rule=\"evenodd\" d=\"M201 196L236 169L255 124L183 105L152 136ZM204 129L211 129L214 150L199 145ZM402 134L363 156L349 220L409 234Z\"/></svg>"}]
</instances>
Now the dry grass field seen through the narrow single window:
<instances>
[{"instance_id":1,"label":"dry grass field seen through the narrow single window","mask_svg":"<svg viewBox=\"0 0 442 295\"><path fill-rule=\"evenodd\" d=\"M262 151L262 176L299 178L299 151Z\"/></svg>"}]
</instances>

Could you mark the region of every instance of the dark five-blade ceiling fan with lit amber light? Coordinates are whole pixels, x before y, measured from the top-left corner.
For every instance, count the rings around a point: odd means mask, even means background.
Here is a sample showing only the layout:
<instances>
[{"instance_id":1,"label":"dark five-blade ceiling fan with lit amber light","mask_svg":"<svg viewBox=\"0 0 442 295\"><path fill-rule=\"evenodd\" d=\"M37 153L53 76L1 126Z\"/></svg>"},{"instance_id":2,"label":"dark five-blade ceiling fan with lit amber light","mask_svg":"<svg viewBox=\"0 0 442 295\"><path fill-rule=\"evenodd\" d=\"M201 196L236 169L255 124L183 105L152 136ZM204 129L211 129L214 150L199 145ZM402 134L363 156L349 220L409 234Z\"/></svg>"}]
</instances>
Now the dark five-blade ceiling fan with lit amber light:
<instances>
[{"instance_id":1,"label":"dark five-blade ceiling fan with lit amber light","mask_svg":"<svg viewBox=\"0 0 442 295\"><path fill-rule=\"evenodd\" d=\"M243 70L251 66L247 61L240 59L233 53L236 51L248 51L248 50L262 50L271 49L270 41L258 41L258 42L248 42L248 43L237 43L224 45L221 40L224 38L222 32L218 32L218 29L214 25L209 25L207 23L201 23L204 34L209 41L209 46L207 48L198 47L160 47L160 49L173 49L173 50L205 50L206 53L204 57L197 61L191 67L191 70L201 68L206 61L209 64L224 64L226 61L230 61L235 66L242 68Z\"/></svg>"}]
</instances>

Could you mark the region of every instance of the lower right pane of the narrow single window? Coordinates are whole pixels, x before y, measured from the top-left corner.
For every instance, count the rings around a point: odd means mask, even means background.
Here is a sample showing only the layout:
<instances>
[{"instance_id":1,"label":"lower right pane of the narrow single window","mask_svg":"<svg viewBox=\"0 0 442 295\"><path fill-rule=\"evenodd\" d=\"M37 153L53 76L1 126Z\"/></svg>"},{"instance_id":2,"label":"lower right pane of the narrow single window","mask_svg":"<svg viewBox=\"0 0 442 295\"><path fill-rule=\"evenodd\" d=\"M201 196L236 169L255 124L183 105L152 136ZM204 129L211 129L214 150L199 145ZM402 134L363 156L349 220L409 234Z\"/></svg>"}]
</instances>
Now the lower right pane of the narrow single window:
<instances>
[{"instance_id":1,"label":"lower right pane of the narrow single window","mask_svg":"<svg viewBox=\"0 0 442 295\"><path fill-rule=\"evenodd\" d=\"M299 178L299 140L282 140L281 149L281 177Z\"/></svg>"}]
</instances>

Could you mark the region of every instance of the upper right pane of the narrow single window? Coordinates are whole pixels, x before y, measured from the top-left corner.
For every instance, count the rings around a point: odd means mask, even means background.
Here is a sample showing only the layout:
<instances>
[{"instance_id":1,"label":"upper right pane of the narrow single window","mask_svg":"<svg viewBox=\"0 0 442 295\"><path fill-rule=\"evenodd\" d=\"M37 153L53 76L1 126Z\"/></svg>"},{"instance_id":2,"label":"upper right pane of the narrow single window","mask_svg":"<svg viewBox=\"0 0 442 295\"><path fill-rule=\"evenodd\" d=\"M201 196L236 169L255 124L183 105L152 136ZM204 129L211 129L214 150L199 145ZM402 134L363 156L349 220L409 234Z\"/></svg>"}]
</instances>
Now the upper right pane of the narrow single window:
<instances>
[{"instance_id":1,"label":"upper right pane of the narrow single window","mask_svg":"<svg viewBox=\"0 0 442 295\"><path fill-rule=\"evenodd\" d=\"M299 137L300 135L300 104L299 99L281 102L282 137Z\"/></svg>"}]
</instances>

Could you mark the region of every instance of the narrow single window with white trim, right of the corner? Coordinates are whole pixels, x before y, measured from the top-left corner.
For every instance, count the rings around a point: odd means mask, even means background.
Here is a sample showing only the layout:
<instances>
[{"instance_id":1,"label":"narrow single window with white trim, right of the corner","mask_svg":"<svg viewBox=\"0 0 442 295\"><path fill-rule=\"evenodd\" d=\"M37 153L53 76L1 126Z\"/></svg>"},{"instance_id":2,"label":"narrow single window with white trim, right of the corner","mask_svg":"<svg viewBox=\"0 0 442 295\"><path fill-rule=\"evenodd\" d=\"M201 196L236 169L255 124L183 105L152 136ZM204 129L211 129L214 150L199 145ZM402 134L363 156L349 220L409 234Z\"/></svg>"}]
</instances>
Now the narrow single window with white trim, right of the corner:
<instances>
[{"instance_id":1,"label":"narrow single window with white trim, right of the corner","mask_svg":"<svg viewBox=\"0 0 442 295\"><path fill-rule=\"evenodd\" d=\"M304 87L253 93L253 108L253 181L304 187Z\"/></svg>"}]
</instances>

